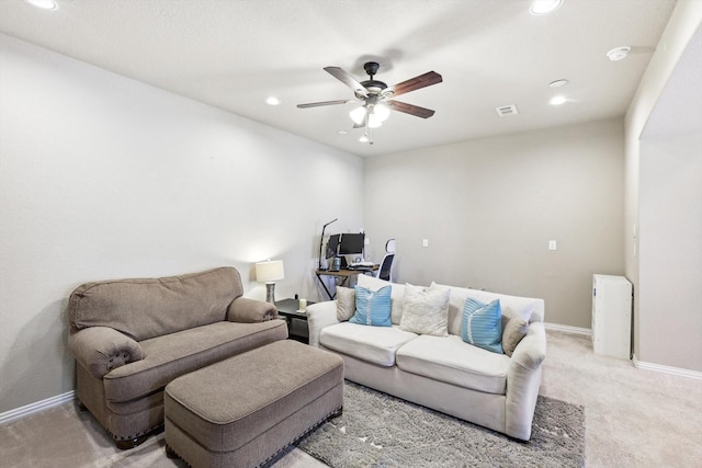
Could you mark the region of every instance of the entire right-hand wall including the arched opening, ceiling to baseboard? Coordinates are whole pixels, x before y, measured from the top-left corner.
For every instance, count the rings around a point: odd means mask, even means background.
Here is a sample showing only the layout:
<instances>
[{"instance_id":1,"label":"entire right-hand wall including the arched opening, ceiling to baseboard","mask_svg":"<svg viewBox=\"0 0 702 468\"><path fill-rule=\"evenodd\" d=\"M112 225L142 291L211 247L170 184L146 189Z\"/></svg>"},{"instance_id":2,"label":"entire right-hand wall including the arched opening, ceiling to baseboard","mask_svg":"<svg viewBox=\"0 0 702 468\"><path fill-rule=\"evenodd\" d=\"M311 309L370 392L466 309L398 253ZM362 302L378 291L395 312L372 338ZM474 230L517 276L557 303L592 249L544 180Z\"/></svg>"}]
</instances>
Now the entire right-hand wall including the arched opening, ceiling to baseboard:
<instances>
[{"instance_id":1,"label":"entire right-hand wall including the arched opening, ceiling to baseboard","mask_svg":"<svg viewBox=\"0 0 702 468\"><path fill-rule=\"evenodd\" d=\"M626 113L638 366L702 372L702 2L680 0ZM697 374L694 374L697 373Z\"/></svg>"}]
</instances>

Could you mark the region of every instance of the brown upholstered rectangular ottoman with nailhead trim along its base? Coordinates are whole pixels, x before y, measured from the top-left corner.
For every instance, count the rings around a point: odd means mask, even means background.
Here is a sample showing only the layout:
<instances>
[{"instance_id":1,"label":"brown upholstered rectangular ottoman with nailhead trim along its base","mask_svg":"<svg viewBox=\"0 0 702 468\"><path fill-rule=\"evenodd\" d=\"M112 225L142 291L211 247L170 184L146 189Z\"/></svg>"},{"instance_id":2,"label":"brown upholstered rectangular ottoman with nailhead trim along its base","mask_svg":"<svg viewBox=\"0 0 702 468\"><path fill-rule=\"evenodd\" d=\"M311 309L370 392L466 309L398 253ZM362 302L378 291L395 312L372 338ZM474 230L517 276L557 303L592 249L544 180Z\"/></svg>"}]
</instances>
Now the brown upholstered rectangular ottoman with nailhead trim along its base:
<instances>
[{"instance_id":1,"label":"brown upholstered rectangular ottoman with nailhead trim along its base","mask_svg":"<svg viewBox=\"0 0 702 468\"><path fill-rule=\"evenodd\" d=\"M166 450L197 467L260 466L341 412L341 357L278 341L172 380Z\"/></svg>"}]
</instances>

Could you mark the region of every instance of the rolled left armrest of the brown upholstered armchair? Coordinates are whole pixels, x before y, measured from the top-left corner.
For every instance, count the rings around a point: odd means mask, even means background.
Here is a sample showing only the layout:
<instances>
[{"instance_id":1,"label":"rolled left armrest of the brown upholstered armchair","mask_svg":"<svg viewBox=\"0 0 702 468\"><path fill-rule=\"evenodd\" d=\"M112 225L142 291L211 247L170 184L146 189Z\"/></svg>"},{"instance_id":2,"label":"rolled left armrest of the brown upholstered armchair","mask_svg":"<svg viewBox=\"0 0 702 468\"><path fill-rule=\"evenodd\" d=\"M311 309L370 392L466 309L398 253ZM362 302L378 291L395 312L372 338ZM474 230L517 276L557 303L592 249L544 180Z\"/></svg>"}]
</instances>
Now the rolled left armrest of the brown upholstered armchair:
<instances>
[{"instance_id":1,"label":"rolled left armrest of the brown upholstered armchair","mask_svg":"<svg viewBox=\"0 0 702 468\"><path fill-rule=\"evenodd\" d=\"M94 378L144 358L139 343L109 327L73 329L68 345L76 361Z\"/></svg>"}]
</instances>

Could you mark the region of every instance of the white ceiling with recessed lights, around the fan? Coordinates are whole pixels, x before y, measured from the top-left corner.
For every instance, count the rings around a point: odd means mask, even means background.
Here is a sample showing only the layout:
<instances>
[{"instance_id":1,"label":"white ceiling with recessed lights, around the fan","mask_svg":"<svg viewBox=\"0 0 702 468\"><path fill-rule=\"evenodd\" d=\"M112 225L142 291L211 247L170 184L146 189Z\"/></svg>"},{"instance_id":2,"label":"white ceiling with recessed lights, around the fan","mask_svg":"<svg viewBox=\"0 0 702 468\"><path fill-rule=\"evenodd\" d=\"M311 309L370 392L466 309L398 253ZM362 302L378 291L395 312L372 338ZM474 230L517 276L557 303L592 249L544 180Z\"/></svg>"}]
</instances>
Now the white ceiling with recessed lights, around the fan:
<instances>
[{"instance_id":1,"label":"white ceiling with recessed lights, around the fan","mask_svg":"<svg viewBox=\"0 0 702 468\"><path fill-rule=\"evenodd\" d=\"M0 32L276 128L371 156L621 116L675 0L564 0L551 15L529 0L57 0L43 11L0 0ZM605 54L631 46L622 61ZM395 84L434 70L443 82L399 100L374 145L352 129L351 99L322 70L359 81L363 62ZM551 81L565 78L561 89ZM568 102L550 106L562 93ZM279 106L264 103L269 95ZM516 104L518 115L495 107ZM340 135L338 130L348 130Z\"/></svg>"}]
</instances>

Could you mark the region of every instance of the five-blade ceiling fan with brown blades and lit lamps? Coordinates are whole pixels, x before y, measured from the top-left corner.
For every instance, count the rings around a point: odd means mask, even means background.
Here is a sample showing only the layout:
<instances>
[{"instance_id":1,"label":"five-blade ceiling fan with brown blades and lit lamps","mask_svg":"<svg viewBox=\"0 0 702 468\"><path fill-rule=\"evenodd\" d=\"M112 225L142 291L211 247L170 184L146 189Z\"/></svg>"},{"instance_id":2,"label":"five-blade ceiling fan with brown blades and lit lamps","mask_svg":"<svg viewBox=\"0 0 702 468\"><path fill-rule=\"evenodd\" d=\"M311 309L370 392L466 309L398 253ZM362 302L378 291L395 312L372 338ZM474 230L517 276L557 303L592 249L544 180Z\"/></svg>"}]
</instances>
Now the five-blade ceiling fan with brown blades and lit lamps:
<instances>
[{"instance_id":1,"label":"five-blade ceiling fan with brown blades and lit lamps","mask_svg":"<svg viewBox=\"0 0 702 468\"><path fill-rule=\"evenodd\" d=\"M421 88L438 84L443 81L441 75L435 71L428 71L409 80L403 81L395 85L388 87L383 81L373 79L377 73L380 64L376 61L367 61L363 65L363 69L370 79L365 81L356 81L348 71L340 67L325 67L325 71L341 81L353 90L355 99L341 99L336 101L312 102L307 104L297 104L298 109L319 107L322 105L346 104L348 102L359 102L361 105L349 113L354 125L353 128L365 128L365 141L373 144L370 137L369 128L377 128L389 116L389 111L404 112L405 114L415 115L421 118L429 118L434 115L434 111L418 105L407 104L405 102L395 101L394 98L408 93Z\"/></svg>"}]
</instances>

